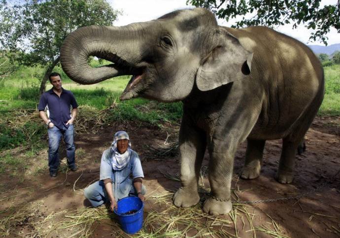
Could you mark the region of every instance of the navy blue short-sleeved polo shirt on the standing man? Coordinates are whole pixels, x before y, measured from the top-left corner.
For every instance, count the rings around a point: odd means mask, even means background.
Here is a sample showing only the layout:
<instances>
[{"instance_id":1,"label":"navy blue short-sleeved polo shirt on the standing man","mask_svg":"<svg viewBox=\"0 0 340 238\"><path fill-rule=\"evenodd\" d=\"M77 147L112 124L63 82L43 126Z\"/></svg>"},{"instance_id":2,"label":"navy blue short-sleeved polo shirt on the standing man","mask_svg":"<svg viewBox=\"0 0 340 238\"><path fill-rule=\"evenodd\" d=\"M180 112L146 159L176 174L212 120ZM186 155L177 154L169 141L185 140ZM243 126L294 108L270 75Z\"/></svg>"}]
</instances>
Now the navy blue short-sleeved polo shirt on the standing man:
<instances>
[{"instance_id":1,"label":"navy blue short-sleeved polo shirt on the standing man","mask_svg":"<svg viewBox=\"0 0 340 238\"><path fill-rule=\"evenodd\" d=\"M43 93L39 101L38 110L44 111L46 105L48 106L50 113L49 119L60 130L63 130L63 125L68 128L66 123L69 119L71 119L70 105L72 105L72 108L78 107L71 91L65 89L63 89L60 98L55 92L53 92L53 89Z\"/></svg>"}]
</instances>

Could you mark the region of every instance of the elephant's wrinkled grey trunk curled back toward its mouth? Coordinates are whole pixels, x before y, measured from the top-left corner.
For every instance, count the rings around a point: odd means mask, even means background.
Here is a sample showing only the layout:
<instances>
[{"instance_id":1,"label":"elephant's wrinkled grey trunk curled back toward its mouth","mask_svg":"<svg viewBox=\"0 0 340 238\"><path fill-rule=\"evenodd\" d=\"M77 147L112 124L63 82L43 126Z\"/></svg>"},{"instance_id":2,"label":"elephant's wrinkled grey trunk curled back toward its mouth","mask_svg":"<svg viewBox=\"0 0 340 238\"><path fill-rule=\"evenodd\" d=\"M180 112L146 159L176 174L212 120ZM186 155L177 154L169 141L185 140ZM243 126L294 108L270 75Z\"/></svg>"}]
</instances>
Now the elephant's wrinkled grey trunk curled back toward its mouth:
<instances>
[{"instance_id":1,"label":"elephant's wrinkled grey trunk curled back toward its mouth","mask_svg":"<svg viewBox=\"0 0 340 238\"><path fill-rule=\"evenodd\" d=\"M140 28L89 26L79 28L65 39L61 47L61 65L66 74L82 84L94 84L119 75L134 74L140 60ZM138 33L139 32L139 33ZM90 67L89 56L97 56L114 64Z\"/></svg>"}]
</instances>

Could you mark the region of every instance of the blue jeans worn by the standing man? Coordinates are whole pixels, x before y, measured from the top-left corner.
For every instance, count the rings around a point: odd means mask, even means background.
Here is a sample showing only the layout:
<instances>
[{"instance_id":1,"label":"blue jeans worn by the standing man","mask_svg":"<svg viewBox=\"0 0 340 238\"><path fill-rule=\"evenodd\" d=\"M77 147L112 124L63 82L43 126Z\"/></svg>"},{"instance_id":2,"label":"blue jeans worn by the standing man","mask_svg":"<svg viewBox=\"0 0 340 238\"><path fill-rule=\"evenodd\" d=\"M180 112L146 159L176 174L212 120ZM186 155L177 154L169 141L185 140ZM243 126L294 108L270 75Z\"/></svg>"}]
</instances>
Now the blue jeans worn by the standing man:
<instances>
[{"instance_id":1,"label":"blue jeans worn by the standing man","mask_svg":"<svg viewBox=\"0 0 340 238\"><path fill-rule=\"evenodd\" d=\"M74 154L75 146L73 142L74 128L73 125L69 125L68 128L63 126L63 130L54 126L48 128L48 166L50 172L58 170L59 161L59 144L63 137L66 145L66 156L68 158L68 167L73 168L75 166Z\"/></svg>"}]
</instances>

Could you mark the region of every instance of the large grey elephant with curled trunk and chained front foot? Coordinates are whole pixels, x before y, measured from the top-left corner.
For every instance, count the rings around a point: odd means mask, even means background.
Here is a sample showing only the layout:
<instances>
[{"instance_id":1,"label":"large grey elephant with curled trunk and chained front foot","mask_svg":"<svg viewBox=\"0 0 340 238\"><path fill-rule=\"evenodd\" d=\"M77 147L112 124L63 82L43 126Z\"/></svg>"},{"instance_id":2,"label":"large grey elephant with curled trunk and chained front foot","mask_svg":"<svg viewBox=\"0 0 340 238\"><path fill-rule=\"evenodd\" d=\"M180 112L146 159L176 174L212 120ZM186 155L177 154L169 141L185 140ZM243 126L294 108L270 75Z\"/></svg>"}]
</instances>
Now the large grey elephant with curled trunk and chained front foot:
<instances>
[{"instance_id":1,"label":"large grey elephant with curled trunk and chained front foot","mask_svg":"<svg viewBox=\"0 0 340 238\"><path fill-rule=\"evenodd\" d=\"M89 56L112 62L88 65ZM295 153L324 95L323 68L298 40L270 28L218 26L207 9L170 12L122 27L88 26L69 34L61 65L81 84L132 75L120 100L183 102L179 130L177 207L198 204L198 180L209 153L211 195L203 210L232 209L231 180L238 145L247 140L240 176L259 176L266 140L282 138L275 175L291 183Z\"/></svg>"}]
</instances>

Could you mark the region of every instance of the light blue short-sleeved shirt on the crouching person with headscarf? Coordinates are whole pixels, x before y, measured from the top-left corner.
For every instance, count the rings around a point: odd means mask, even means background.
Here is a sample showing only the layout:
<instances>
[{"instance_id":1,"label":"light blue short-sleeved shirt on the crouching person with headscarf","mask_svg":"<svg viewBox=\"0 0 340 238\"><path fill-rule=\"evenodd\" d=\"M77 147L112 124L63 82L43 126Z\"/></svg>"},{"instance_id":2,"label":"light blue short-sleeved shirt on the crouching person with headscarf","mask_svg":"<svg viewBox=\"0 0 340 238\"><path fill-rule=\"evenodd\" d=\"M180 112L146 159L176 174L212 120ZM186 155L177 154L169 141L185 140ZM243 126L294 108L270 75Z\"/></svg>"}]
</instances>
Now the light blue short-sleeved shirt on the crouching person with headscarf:
<instances>
[{"instance_id":1,"label":"light blue short-sleeved shirt on the crouching person with headscarf","mask_svg":"<svg viewBox=\"0 0 340 238\"><path fill-rule=\"evenodd\" d=\"M111 148L102 153L100 180L111 178L114 197L116 200L128 197L130 190L134 188L133 179L144 177L138 154L130 150L129 162L122 170L112 169ZM130 174L132 173L132 178Z\"/></svg>"}]
</instances>

